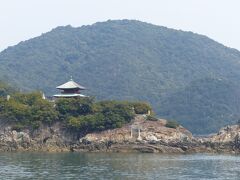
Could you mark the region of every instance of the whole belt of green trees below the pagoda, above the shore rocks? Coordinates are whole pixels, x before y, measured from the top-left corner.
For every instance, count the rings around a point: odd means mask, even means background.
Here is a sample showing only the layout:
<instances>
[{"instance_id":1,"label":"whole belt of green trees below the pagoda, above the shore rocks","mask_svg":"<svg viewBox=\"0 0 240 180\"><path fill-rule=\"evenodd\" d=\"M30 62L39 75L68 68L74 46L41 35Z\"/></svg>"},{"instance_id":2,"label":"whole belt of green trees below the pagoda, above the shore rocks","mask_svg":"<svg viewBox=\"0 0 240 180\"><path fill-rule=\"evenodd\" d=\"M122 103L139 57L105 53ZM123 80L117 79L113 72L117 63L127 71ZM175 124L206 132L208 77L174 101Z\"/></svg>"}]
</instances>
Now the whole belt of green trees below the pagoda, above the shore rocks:
<instances>
[{"instance_id":1,"label":"whole belt of green trees below the pagoda, above the shore rocks","mask_svg":"<svg viewBox=\"0 0 240 180\"><path fill-rule=\"evenodd\" d=\"M81 134L120 128L136 113L146 114L150 105L144 102L99 101L93 98L57 99L49 102L39 92L14 93L7 100L0 97L0 125L15 130L38 129L42 124L61 122L65 128Z\"/></svg>"}]
</instances>

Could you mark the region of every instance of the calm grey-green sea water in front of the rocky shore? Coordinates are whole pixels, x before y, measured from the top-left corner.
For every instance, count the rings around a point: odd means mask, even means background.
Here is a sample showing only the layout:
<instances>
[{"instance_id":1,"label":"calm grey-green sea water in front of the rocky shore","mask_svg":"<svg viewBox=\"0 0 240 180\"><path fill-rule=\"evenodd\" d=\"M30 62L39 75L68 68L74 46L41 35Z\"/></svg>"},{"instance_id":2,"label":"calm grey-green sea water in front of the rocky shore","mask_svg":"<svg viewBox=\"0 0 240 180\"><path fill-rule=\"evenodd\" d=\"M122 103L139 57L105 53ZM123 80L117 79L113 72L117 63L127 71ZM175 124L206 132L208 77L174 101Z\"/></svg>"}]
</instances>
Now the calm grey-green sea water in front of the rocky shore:
<instances>
[{"instance_id":1,"label":"calm grey-green sea water in front of the rocky shore","mask_svg":"<svg viewBox=\"0 0 240 180\"><path fill-rule=\"evenodd\" d=\"M240 156L0 153L0 179L240 179Z\"/></svg>"}]
</instances>

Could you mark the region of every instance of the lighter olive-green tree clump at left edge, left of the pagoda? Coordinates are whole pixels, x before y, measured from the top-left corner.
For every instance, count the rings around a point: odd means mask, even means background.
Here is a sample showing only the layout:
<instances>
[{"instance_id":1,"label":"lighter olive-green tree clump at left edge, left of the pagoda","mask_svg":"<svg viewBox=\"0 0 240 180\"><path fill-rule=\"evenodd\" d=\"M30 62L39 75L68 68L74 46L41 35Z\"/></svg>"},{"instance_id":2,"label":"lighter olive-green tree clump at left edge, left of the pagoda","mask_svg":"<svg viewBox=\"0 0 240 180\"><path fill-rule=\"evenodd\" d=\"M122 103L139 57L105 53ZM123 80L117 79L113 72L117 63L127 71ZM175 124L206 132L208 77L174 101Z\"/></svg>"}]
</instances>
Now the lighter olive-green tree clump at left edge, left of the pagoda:
<instances>
[{"instance_id":1,"label":"lighter olive-green tree clump at left edge, left of the pagoda","mask_svg":"<svg viewBox=\"0 0 240 180\"><path fill-rule=\"evenodd\" d=\"M41 123L51 123L58 119L54 104L43 100L41 93L16 93L9 101L1 98L0 102L0 117L14 122L15 129L37 129Z\"/></svg>"}]
</instances>

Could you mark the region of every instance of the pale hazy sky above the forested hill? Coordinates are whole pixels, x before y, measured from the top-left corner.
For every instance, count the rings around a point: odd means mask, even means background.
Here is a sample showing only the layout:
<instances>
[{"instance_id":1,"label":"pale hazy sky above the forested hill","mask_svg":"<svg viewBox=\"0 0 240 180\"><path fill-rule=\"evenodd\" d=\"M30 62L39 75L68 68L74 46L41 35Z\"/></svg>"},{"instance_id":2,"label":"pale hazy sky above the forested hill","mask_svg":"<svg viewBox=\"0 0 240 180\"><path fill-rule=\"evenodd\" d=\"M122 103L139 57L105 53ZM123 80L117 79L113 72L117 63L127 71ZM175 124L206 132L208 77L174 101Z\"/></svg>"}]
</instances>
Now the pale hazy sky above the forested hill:
<instances>
[{"instance_id":1,"label":"pale hazy sky above the forested hill","mask_svg":"<svg viewBox=\"0 0 240 180\"><path fill-rule=\"evenodd\" d=\"M62 25L137 19L240 50L240 0L0 0L0 51Z\"/></svg>"}]
</instances>

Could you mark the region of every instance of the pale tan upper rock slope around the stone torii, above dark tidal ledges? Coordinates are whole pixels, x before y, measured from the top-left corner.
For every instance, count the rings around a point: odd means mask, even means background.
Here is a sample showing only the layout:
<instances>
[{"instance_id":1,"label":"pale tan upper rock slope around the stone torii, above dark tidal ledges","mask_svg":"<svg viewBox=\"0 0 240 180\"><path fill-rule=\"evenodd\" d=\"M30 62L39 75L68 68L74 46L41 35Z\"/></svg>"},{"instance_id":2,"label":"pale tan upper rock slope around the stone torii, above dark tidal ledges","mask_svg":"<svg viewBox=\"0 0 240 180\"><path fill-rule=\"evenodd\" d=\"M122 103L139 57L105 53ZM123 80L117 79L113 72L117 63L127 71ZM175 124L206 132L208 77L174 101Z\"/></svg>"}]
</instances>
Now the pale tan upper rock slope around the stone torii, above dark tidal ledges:
<instances>
[{"instance_id":1,"label":"pale tan upper rock slope around the stone torii, above dark tidal ledges","mask_svg":"<svg viewBox=\"0 0 240 180\"><path fill-rule=\"evenodd\" d=\"M166 120L146 121L144 116L137 116L133 123L122 128L87 134L80 139L89 142L172 142L189 141L192 134L183 127L177 129L165 127ZM131 130L132 129L132 130ZM131 132L132 131L132 132ZM140 132L139 132L140 131Z\"/></svg>"}]
</instances>

